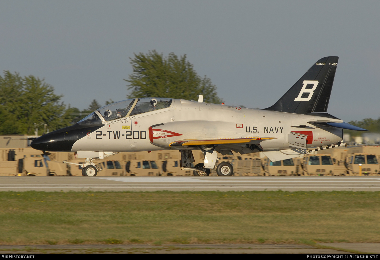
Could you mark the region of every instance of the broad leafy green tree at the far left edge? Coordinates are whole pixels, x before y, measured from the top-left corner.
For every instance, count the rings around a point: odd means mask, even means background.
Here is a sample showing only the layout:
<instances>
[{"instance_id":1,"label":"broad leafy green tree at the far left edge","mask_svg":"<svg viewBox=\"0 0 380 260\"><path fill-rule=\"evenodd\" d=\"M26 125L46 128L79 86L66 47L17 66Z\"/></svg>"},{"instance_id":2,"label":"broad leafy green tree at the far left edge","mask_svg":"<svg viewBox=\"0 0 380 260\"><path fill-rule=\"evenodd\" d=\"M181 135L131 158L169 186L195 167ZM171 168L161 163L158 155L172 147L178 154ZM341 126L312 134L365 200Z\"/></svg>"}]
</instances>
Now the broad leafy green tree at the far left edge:
<instances>
[{"instance_id":1,"label":"broad leafy green tree at the far left edge","mask_svg":"<svg viewBox=\"0 0 380 260\"><path fill-rule=\"evenodd\" d=\"M44 79L4 71L0 76L0 133L33 135L35 127L42 133L44 124L50 130L70 124L62 117L66 108L60 103L62 96L55 95Z\"/></svg>"}]
</instances>

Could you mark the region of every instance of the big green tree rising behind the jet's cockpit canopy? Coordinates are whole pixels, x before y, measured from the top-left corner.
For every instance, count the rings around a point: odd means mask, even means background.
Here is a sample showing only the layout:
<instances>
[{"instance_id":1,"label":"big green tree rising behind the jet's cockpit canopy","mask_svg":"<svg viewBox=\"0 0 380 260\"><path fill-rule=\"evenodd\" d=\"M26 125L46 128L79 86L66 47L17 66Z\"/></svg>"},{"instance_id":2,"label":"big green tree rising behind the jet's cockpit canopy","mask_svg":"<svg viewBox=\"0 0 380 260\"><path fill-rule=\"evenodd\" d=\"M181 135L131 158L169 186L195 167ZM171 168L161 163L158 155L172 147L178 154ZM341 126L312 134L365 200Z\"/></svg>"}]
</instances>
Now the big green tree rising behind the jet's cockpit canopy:
<instances>
[{"instance_id":1,"label":"big green tree rising behind the jet's cockpit canopy","mask_svg":"<svg viewBox=\"0 0 380 260\"><path fill-rule=\"evenodd\" d=\"M132 90L127 98L164 97L203 100L210 103L221 103L216 87L211 79L198 76L193 65L186 60L186 54L177 57L173 52L168 57L157 51L147 54L140 52L131 59L133 73L128 79L128 90Z\"/></svg>"}]
</instances>

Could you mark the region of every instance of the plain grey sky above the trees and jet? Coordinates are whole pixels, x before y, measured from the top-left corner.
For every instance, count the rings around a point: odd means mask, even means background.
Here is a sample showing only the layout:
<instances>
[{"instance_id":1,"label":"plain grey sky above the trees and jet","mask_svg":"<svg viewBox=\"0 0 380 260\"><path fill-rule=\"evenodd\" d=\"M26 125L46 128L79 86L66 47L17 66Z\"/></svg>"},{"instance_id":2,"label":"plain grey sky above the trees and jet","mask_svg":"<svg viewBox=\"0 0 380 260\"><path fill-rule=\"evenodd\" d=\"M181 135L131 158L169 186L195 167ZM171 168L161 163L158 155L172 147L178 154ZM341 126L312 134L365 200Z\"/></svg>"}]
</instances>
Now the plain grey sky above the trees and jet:
<instances>
[{"instance_id":1,"label":"plain grey sky above the trees and jet","mask_svg":"<svg viewBox=\"0 0 380 260\"><path fill-rule=\"evenodd\" d=\"M183 55L226 104L273 105L339 56L328 113L380 116L380 1L2 1L0 69L45 78L79 109L126 99L129 57Z\"/></svg>"}]
</instances>

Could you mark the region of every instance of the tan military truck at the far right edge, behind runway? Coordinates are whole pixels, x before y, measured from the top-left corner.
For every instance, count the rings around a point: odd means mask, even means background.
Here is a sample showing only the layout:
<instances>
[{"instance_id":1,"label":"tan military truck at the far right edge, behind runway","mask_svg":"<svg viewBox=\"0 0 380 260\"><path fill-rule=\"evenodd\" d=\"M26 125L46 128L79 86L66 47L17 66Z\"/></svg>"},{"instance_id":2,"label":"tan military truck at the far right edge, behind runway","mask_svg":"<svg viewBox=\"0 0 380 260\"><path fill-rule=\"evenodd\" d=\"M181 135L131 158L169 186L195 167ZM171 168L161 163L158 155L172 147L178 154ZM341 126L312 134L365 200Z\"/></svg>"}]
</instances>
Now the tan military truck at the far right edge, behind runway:
<instances>
[{"instance_id":1,"label":"tan military truck at the far right edge, behind runway","mask_svg":"<svg viewBox=\"0 0 380 260\"><path fill-rule=\"evenodd\" d=\"M378 174L380 174L378 159L375 154L349 154L345 161L347 174L350 176L358 176L361 167L361 174L363 176L378 176Z\"/></svg>"}]
</instances>

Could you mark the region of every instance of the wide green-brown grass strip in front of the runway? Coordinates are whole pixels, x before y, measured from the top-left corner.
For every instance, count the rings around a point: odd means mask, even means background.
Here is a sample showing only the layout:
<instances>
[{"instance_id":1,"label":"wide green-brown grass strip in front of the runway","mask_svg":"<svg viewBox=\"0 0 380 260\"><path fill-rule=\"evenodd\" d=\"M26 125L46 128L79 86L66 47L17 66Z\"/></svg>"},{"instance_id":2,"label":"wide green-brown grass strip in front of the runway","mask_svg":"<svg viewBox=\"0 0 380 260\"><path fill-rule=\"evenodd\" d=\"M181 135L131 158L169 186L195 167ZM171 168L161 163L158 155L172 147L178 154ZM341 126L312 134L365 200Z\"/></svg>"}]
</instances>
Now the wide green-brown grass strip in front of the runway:
<instances>
[{"instance_id":1,"label":"wide green-brown grass strip in front of the runway","mask_svg":"<svg viewBox=\"0 0 380 260\"><path fill-rule=\"evenodd\" d=\"M349 191L0 192L0 244L380 242L379 203Z\"/></svg>"}]
</instances>

